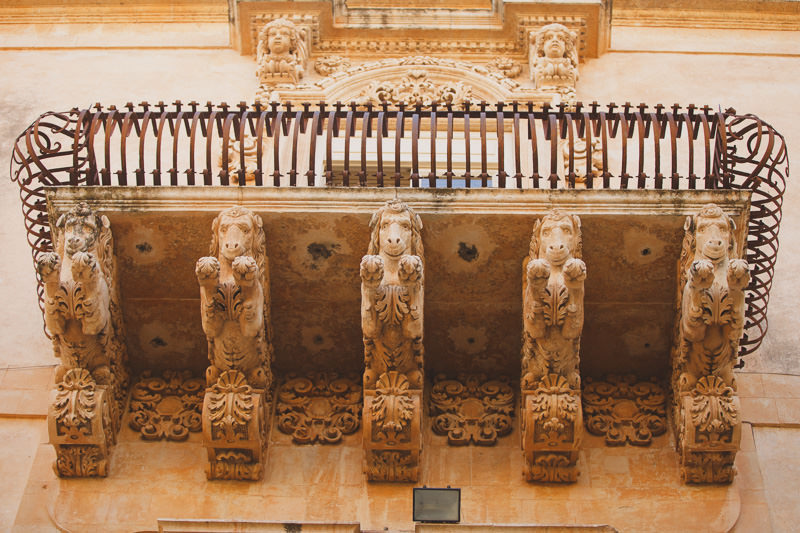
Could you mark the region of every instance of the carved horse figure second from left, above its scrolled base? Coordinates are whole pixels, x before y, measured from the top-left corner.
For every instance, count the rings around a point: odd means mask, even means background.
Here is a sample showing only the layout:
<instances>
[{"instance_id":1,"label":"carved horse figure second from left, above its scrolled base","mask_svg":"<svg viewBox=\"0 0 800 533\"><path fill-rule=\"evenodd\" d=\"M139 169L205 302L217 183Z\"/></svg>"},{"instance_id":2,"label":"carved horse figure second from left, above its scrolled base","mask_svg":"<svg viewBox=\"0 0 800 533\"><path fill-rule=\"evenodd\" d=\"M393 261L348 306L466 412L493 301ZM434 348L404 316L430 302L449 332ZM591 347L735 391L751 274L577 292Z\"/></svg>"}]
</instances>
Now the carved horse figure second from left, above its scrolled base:
<instances>
[{"instance_id":1,"label":"carved horse figure second from left, above its scrolled base","mask_svg":"<svg viewBox=\"0 0 800 533\"><path fill-rule=\"evenodd\" d=\"M253 387L271 384L271 332L266 237L261 217L232 207L212 224L211 256L197 261L208 386L238 370Z\"/></svg>"}]
</instances>

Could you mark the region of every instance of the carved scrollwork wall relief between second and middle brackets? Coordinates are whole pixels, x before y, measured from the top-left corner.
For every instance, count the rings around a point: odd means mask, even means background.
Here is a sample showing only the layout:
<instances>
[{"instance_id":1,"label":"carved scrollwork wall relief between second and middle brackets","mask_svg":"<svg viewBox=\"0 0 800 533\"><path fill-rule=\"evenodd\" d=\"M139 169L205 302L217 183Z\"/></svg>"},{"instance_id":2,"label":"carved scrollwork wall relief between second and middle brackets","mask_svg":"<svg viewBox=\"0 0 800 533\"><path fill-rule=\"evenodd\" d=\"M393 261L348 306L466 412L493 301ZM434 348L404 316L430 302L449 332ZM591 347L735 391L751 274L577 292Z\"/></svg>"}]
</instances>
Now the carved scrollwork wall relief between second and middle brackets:
<instances>
[{"instance_id":1,"label":"carved scrollwork wall relief between second and middle brackets","mask_svg":"<svg viewBox=\"0 0 800 533\"><path fill-rule=\"evenodd\" d=\"M277 401L278 429L297 444L336 444L361 425L361 387L334 373L290 377Z\"/></svg>"}]
</instances>

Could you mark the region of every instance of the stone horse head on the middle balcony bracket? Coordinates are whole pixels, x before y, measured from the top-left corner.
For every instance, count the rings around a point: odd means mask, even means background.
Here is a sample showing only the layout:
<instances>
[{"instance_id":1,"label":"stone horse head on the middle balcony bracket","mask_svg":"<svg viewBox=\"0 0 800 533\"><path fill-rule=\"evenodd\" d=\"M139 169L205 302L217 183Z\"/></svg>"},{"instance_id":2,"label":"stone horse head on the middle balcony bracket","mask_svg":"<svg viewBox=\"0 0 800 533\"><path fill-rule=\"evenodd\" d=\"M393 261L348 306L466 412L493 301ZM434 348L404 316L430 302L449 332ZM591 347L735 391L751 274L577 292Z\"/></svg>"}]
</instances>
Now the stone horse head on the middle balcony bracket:
<instances>
[{"instance_id":1,"label":"stone horse head on the middle balcony bracket","mask_svg":"<svg viewBox=\"0 0 800 533\"><path fill-rule=\"evenodd\" d=\"M390 257L423 256L422 220L400 200L386 202L372 215L369 227L372 234L368 254L383 252Z\"/></svg>"}]
</instances>

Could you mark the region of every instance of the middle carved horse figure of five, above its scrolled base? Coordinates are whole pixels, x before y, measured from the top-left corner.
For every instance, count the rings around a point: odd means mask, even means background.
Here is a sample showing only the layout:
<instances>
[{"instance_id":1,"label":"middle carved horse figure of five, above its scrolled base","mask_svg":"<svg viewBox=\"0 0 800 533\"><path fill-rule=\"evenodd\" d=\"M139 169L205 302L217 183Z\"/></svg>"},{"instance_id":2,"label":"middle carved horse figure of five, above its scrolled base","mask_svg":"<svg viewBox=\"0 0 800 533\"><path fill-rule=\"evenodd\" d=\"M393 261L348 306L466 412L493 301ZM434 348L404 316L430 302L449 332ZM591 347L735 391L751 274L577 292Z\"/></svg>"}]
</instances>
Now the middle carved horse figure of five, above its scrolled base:
<instances>
[{"instance_id":1,"label":"middle carved horse figure of five, above its scrolled base","mask_svg":"<svg viewBox=\"0 0 800 533\"><path fill-rule=\"evenodd\" d=\"M422 387L422 221L399 200L387 202L370 221L368 255L361 260L361 327L364 387L397 371L411 388Z\"/></svg>"}]
</instances>

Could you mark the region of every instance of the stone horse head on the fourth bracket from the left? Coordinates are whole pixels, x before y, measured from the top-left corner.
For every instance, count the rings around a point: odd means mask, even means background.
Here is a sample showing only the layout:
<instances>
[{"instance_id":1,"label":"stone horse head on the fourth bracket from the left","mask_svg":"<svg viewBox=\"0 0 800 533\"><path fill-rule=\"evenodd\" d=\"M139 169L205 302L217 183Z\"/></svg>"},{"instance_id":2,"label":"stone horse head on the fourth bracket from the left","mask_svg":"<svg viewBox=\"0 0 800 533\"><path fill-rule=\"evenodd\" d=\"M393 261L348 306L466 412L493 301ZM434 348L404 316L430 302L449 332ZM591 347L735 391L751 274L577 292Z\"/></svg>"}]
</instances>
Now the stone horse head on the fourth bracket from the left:
<instances>
[{"instance_id":1,"label":"stone horse head on the fourth bracket from the left","mask_svg":"<svg viewBox=\"0 0 800 533\"><path fill-rule=\"evenodd\" d=\"M530 257L547 259L551 265L563 265L567 259L582 255L581 219L553 209L533 225Z\"/></svg>"}]
</instances>

